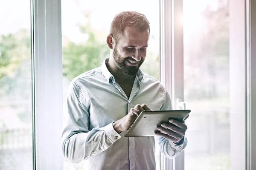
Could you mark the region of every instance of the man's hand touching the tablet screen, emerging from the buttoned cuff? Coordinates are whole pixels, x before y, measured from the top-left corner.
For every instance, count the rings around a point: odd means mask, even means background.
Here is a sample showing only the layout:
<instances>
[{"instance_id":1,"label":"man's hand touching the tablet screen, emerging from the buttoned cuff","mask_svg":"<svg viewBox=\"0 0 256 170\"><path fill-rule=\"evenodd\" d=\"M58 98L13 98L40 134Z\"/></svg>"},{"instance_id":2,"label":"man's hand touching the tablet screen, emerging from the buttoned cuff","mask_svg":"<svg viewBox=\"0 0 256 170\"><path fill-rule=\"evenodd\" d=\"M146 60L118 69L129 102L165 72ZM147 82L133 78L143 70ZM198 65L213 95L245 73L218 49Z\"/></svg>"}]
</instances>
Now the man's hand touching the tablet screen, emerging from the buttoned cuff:
<instances>
[{"instance_id":1,"label":"man's hand touching the tablet screen, emerging from the buttoned cuff","mask_svg":"<svg viewBox=\"0 0 256 170\"><path fill-rule=\"evenodd\" d=\"M122 119L113 122L113 127L117 133L128 130L134 120L140 115L142 111L151 111L151 109L146 105L136 105L134 108L131 108L130 112L124 116Z\"/></svg>"}]
</instances>

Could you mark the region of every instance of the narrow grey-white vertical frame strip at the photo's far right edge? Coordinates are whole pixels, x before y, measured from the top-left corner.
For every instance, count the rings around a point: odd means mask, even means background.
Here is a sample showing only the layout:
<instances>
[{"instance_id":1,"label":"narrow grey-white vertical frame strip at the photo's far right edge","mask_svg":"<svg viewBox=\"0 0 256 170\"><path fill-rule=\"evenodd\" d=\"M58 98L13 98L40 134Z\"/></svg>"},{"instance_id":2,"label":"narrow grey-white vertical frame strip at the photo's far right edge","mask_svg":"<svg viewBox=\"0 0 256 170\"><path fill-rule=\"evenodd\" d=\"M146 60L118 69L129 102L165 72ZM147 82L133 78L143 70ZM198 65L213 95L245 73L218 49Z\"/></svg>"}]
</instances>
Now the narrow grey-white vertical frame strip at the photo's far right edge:
<instances>
[{"instance_id":1,"label":"narrow grey-white vertical frame strip at the photo's far right edge","mask_svg":"<svg viewBox=\"0 0 256 170\"><path fill-rule=\"evenodd\" d=\"M256 4L246 0L247 31L247 170L256 169Z\"/></svg>"}]
</instances>

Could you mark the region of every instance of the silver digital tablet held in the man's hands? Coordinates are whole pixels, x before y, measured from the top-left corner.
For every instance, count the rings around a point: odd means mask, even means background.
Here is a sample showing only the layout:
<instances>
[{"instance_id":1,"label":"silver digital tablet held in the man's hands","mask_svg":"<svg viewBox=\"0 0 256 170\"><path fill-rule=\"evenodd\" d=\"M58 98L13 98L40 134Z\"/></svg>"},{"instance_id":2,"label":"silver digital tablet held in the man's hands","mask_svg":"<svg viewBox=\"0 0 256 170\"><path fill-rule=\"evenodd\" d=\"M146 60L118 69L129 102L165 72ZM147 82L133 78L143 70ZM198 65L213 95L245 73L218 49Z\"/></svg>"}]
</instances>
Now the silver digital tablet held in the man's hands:
<instances>
[{"instance_id":1,"label":"silver digital tablet held in the man's hands","mask_svg":"<svg viewBox=\"0 0 256 170\"><path fill-rule=\"evenodd\" d=\"M154 136L155 132L158 131L157 127L161 126L161 123L169 122L169 119L183 122L190 112L190 110L142 111L124 136Z\"/></svg>"}]
</instances>

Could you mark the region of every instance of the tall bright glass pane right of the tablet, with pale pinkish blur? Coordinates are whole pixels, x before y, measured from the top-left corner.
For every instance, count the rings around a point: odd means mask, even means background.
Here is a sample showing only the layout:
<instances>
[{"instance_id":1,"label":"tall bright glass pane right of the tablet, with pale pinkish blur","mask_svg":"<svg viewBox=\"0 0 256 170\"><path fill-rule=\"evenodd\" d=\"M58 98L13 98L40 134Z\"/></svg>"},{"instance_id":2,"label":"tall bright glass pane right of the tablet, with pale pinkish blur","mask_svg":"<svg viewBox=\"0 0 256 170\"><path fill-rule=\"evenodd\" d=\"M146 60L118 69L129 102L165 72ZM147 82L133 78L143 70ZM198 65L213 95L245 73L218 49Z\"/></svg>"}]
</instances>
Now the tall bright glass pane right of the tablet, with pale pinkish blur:
<instances>
[{"instance_id":1,"label":"tall bright glass pane right of the tablet, with pale pinkish blur","mask_svg":"<svg viewBox=\"0 0 256 170\"><path fill-rule=\"evenodd\" d=\"M186 170L230 169L229 3L183 0Z\"/></svg>"}]
</instances>

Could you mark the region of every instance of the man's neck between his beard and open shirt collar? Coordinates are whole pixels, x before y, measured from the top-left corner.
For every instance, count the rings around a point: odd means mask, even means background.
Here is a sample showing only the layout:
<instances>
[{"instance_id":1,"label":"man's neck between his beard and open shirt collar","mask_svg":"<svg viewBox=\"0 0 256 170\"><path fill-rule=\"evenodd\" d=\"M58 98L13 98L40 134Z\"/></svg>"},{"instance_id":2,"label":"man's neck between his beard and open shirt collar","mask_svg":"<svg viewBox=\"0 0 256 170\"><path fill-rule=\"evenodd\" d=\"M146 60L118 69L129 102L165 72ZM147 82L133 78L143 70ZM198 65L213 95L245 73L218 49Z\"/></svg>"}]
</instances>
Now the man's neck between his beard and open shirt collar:
<instances>
[{"instance_id":1,"label":"man's neck between his beard and open shirt collar","mask_svg":"<svg viewBox=\"0 0 256 170\"><path fill-rule=\"evenodd\" d=\"M113 61L113 57L109 58L108 63L106 64L108 71L115 77L115 79L119 82L134 82L136 74L133 76L129 76L125 74L122 70L120 70Z\"/></svg>"}]
</instances>

